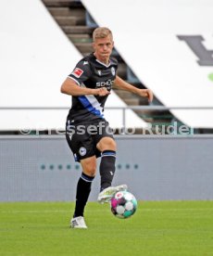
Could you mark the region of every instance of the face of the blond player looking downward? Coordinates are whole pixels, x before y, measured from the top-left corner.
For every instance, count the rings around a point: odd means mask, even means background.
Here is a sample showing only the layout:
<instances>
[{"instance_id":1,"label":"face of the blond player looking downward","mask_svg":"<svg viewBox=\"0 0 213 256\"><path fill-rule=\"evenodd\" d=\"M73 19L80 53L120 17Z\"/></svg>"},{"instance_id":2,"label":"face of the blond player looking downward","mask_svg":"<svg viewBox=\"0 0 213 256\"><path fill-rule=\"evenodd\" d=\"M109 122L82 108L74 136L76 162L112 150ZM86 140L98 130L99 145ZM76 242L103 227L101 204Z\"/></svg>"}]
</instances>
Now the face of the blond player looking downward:
<instances>
[{"instance_id":1,"label":"face of the blond player looking downward","mask_svg":"<svg viewBox=\"0 0 213 256\"><path fill-rule=\"evenodd\" d=\"M93 46L94 46L94 56L98 60L107 64L114 46L112 37L108 35L105 38L97 38L95 39Z\"/></svg>"}]
</instances>

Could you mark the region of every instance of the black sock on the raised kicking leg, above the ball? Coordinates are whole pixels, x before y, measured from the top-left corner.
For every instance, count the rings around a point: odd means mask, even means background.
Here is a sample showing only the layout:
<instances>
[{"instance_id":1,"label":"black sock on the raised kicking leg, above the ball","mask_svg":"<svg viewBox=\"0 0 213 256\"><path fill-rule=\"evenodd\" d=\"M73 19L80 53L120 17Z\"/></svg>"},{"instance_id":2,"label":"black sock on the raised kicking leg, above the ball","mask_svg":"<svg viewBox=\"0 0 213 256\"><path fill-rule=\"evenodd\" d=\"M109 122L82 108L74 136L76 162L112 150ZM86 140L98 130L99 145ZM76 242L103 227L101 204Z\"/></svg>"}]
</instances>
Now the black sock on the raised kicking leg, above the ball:
<instances>
[{"instance_id":1,"label":"black sock on the raised kicking leg, above the ball","mask_svg":"<svg viewBox=\"0 0 213 256\"><path fill-rule=\"evenodd\" d=\"M116 151L105 150L102 152L100 163L101 191L111 186L114 173L116 171Z\"/></svg>"}]
</instances>

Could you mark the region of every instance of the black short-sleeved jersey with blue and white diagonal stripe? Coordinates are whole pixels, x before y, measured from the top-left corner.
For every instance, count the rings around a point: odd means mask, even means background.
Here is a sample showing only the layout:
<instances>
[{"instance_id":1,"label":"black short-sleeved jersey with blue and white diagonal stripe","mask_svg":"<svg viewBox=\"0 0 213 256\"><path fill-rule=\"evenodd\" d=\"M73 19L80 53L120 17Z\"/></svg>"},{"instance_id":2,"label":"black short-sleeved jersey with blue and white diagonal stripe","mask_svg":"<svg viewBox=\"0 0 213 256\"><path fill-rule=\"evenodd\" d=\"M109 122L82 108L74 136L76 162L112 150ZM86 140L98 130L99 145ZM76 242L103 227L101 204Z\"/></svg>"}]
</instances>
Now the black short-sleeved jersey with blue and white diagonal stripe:
<instances>
[{"instance_id":1,"label":"black short-sleeved jersey with blue and white diagonal stripe","mask_svg":"<svg viewBox=\"0 0 213 256\"><path fill-rule=\"evenodd\" d=\"M79 86L97 89L106 87L108 91L116 78L118 61L109 58L109 64L100 62L94 54L82 58L69 74ZM72 106L68 119L72 122L87 122L98 118L104 119L104 107L107 96L72 96Z\"/></svg>"}]
</instances>

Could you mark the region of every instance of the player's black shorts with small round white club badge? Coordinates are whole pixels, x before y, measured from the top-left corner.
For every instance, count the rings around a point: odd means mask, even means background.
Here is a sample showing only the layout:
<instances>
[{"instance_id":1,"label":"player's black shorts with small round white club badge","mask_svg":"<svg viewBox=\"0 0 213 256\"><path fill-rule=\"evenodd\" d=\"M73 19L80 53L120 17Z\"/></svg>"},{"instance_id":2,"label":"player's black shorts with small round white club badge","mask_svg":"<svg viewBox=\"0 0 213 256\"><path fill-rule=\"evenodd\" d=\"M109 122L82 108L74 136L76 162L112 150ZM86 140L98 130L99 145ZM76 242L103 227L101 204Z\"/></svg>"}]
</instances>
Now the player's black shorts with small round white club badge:
<instances>
[{"instance_id":1,"label":"player's black shorts with small round white club badge","mask_svg":"<svg viewBox=\"0 0 213 256\"><path fill-rule=\"evenodd\" d=\"M103 137L114 139L113 131L104 119L78 124L67 121L66 138L76 161L93 156L100 157L101 152L96 145Z\"/></svg>"}]
</instances>

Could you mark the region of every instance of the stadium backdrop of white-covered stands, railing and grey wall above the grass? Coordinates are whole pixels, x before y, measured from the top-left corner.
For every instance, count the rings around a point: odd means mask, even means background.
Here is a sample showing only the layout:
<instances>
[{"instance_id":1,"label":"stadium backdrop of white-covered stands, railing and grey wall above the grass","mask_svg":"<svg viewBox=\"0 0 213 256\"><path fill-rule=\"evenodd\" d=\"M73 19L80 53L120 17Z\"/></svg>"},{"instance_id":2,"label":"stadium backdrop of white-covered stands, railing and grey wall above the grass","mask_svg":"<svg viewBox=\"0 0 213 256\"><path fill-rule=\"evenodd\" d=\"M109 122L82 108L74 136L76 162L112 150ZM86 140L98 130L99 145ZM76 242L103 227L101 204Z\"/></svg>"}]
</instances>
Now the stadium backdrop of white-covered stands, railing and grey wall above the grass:
<instances>
[{"instance_id":1,"label":"stadium backdrop of white-covered stands, railing and grey wall above the grass","mask_svg":"<svg viewBox=\"0 0 213 256\"><path fill-rule=\"evenodd\" d=\"M74 200L80 165L64 136L71 97L59 88L92 51L97 26L114 33L119 76L155 94L150 105L116 89L108 98L115 183L143 200L213 199L212 1L0 5L0 201Z\"/></svg>"}]
</instances>

